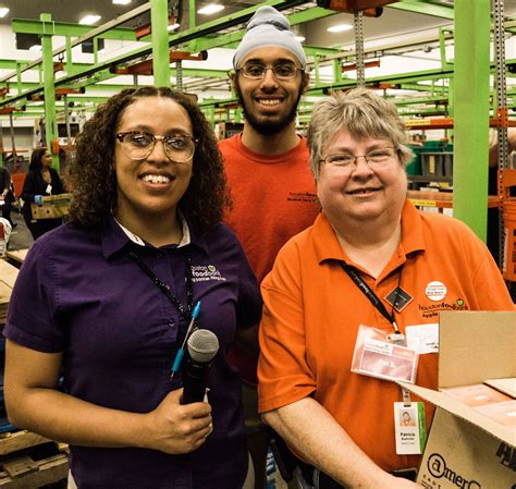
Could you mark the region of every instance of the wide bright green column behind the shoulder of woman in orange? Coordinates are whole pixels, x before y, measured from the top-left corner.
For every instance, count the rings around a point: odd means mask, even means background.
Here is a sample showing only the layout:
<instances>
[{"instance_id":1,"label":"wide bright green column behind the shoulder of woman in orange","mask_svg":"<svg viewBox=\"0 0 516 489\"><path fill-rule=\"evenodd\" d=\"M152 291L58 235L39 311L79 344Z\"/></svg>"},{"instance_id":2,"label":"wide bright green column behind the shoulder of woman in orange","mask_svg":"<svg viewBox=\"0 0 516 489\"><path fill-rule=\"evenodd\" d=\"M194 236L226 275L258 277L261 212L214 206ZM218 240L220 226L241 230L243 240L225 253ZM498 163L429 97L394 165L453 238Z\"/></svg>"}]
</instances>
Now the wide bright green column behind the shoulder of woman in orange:
<instances>
[{"instance_id":1,"label":"wide bright green column behind the shoulder of woman in orange","mask_svg":"<svg viewBox=\"0 0 516 489\"><path fill-rule=\"evenodd\" d=\"M490 0L455 0L453 213L486 242ZM471 36L475 33L475 36Z\"/></svg>"}]
</instances>

